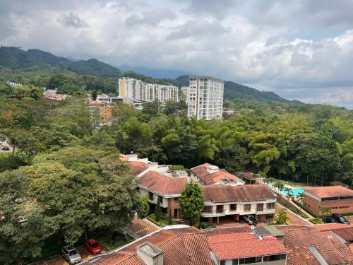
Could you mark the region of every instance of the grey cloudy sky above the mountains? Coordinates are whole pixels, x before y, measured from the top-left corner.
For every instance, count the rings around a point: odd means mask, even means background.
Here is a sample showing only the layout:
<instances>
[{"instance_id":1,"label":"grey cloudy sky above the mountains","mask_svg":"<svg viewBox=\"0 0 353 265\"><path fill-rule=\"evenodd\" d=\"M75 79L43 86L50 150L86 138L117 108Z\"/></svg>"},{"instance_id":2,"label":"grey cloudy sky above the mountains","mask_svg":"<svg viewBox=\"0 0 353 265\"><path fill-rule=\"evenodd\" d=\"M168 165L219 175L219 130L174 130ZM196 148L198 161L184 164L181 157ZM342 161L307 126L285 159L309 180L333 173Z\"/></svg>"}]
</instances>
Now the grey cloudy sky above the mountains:
<instances>
[{"instance_id":1,"label":"grey cloudy sky above the mountains","mask_svg":"<svg viewBox=\"0 0 353 265\"><path fill-rule=\"evenodd\" d=\"M353 0L0 0L0 44L353 109Z\"/></svg>"}]
</instances>

